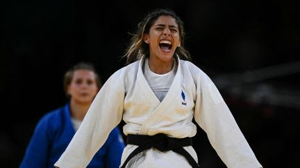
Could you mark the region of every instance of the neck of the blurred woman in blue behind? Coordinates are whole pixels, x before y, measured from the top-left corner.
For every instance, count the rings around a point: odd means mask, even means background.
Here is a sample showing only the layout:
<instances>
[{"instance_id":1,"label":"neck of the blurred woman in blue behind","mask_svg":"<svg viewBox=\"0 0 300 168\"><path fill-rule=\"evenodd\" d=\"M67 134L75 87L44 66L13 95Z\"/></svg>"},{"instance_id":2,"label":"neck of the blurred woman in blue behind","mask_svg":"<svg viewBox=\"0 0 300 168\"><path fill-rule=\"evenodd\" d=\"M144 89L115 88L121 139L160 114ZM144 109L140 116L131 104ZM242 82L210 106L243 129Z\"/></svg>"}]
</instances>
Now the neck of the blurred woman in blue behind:
<instances>
[{"instance_id":1,"label":"neck of the blurred woman in blue behind","mask_svg":"<svg viewBox=\"0 0 300 168\"><path fill-rule=\"evenodd\" d=\"M75 101L70 101L71 115L76 120L82 121L89 108L90 104L79 104Z\"/></svg>"}]
</instances>

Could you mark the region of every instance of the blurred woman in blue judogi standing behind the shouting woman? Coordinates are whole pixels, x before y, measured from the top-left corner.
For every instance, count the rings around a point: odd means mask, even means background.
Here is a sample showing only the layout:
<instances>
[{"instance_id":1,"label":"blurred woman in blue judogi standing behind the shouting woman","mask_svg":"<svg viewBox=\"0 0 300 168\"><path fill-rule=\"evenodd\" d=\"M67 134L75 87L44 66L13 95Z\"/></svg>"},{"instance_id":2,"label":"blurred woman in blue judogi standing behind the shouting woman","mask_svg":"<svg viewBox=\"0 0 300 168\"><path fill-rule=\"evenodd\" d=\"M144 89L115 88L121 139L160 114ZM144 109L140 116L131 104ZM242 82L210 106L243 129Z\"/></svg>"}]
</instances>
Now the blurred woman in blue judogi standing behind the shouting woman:
<instances>
[{"instance_id":1,"label":"blurred woman in blue judogi standing behind the shouting woman","mask_svg":"<svg viewBox=\"0 0 300 168\"><path fill-rule=\"evenodd\" d=\"M101 86L99 75L90 63L80 62L65 73L64 89L69 102L40 119L20 168L53 167L80 127ZM119 167L123 149L122 134L115 127L88 167Z\"/></svg>"}]
</instances>

